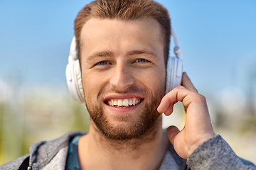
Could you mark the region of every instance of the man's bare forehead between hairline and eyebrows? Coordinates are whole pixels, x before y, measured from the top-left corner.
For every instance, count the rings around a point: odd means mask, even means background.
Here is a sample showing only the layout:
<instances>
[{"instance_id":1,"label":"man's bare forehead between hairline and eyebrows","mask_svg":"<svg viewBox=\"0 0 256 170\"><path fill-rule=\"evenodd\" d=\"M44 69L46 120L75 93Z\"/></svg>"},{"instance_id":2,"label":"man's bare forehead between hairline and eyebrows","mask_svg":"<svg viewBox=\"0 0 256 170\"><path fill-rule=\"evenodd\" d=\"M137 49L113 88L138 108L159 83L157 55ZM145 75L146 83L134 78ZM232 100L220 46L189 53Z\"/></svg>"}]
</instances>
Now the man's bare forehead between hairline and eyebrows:
<instances>
[{"instance_id":1,"label":"man's bare forehead between hairline and eyebrows","mask_svg":"<svg viewBox=\"0 0 256 170\"><path fill-rule=\"evenodd\" d=\"M164 38L160 24L154 18L139 18L122 21L118 18L90 18L82 27L80 45L106 37L121 39L124 36L136 35L138 39L150 39L161 42Z\"/></svg>"}]
</instances>

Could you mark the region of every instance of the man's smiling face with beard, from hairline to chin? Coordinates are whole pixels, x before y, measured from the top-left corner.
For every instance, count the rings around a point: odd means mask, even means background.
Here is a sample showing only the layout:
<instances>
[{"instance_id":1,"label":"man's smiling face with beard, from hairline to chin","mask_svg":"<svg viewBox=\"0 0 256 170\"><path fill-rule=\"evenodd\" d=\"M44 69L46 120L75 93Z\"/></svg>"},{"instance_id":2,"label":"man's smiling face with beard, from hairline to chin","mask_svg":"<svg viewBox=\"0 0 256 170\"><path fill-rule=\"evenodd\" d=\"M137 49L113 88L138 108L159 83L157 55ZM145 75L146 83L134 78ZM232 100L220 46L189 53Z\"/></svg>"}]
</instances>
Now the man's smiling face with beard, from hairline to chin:
<instances>
[{"instance_id":1,"label":"man's smiling face with beard, from hairline to chin","mask_svg":"<svg viewBox=\"0 0 256 170\"><path fill-rule=\"evenodd\" d=\"M159 23L90 18L82 28L81 47L92 123L112 140L139 138L152 129L166 77Z\"/></svg>"}]
</instances>

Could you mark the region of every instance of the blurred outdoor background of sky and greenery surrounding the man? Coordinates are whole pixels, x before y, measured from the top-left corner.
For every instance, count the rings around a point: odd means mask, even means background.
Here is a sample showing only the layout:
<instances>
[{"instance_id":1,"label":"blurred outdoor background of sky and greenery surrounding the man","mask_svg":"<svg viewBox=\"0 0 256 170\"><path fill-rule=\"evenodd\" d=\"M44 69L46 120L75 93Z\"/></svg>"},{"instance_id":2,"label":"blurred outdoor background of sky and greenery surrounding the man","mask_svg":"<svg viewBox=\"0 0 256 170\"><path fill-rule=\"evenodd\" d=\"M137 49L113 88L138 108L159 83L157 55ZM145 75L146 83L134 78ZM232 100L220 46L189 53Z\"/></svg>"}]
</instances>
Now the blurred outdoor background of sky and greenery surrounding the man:
<instances>
[{"instance_id":1,"label":"blurred outdoor background of sky and greenery surrounding the man","mask_svg":"<svg viewBox=\"0 0 256 170\"><path fill-rule=\"evenodd\" d=\"M256 163L256 1L158 0L169 9L183 70L206 96L215 133ZM0 0L0 165L39 140L88 131L68 94L73 22L90 1ZM181 103L164 127L183 128Z\"/></svg>"}]
</instances>

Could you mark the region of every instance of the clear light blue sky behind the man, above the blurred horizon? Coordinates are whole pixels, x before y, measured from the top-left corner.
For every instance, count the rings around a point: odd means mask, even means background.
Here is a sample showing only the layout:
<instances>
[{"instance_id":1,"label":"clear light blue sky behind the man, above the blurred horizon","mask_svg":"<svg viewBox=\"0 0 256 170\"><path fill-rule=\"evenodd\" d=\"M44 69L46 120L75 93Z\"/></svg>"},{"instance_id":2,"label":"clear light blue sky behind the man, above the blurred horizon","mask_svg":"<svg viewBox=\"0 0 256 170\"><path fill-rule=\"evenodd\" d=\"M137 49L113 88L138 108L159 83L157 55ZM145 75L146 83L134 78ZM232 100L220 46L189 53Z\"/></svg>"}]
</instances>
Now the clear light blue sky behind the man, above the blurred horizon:
<instances>
[{"instance_id":1,"label":"clear light blue sky behind the man, above the blurred horizon","mask_svg":"<svg viewBox=\"0 0 256 170\"><path fill-rule=\"evenodd\" d=\"M90 1L0 0L0 79L65 85L73 21ZM183 70L199 91L247 89L256 64L256 1L161 1L181 43ZM256 74L256 72L255 72Z\"/></svg>"}]
</instances>

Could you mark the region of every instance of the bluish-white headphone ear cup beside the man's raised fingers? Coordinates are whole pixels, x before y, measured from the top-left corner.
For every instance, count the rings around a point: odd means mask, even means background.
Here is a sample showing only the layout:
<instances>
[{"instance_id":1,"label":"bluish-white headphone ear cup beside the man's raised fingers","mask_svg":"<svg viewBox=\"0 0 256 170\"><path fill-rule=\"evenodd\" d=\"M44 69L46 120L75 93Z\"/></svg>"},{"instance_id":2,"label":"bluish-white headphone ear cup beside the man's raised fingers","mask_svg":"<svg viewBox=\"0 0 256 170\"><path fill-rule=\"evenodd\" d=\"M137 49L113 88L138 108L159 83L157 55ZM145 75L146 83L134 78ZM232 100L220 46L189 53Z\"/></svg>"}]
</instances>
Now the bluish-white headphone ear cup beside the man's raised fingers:
<instances>
[{"instance_id":1,"label":"bluish-white headphone ear cup beside the man's raised fingers","mask_svg":"<svg viewBox=\"0 0 256 170\"><path fill-rule=\"evenodd\" d=\"M182 60L178 59L178 57L168 57L166 65L166 94L176 86L181 85L182 76L177 76L179 64L181 64L182 67Z\"/></svg>"}]
</instances>

